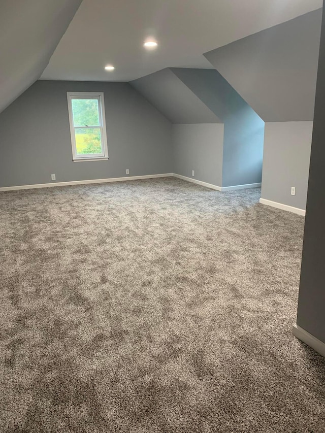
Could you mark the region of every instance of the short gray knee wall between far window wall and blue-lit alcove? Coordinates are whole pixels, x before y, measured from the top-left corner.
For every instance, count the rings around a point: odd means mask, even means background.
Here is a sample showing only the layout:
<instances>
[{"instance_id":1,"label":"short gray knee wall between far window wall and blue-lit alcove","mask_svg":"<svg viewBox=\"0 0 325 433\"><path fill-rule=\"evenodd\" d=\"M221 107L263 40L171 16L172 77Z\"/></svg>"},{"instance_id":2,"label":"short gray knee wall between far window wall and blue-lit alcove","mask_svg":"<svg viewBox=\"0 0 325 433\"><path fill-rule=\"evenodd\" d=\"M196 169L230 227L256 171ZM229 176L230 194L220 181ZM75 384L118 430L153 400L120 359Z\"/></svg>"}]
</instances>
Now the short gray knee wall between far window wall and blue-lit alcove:
<instances>
[{"instance_id":1,"label":"short gray knee wall between far window wall and blue-lit alcove","mask_svg":"<svg viewBox=\"0 0 325 433\"><path fill-rule=\"evenodd\" d=\"M173 125L174 173L221 186L223 124Z\"/></svg>"}]
</instances>

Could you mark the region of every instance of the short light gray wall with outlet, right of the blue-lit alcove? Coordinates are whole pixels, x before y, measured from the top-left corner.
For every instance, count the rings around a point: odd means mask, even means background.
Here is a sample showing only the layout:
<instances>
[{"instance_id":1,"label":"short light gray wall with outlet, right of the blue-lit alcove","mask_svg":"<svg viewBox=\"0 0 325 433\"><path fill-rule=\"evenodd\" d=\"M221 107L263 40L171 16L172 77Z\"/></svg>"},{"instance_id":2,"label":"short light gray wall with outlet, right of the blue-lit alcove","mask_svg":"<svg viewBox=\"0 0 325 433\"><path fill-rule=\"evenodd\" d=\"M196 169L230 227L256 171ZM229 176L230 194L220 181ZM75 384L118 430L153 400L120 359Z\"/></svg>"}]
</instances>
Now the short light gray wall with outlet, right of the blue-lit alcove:
<instances>
[{"instance_id":1,"label":"short light gray wall with outlet, right of the blue-lit alcove","mask_svg":"<svg viewBox=\"0 0 325 433\"><path fill-rule=\"evenodd\" d=\"M262 198L306 209L312 129L313 122L265 124Z\"/></svg>"}]
</instances>

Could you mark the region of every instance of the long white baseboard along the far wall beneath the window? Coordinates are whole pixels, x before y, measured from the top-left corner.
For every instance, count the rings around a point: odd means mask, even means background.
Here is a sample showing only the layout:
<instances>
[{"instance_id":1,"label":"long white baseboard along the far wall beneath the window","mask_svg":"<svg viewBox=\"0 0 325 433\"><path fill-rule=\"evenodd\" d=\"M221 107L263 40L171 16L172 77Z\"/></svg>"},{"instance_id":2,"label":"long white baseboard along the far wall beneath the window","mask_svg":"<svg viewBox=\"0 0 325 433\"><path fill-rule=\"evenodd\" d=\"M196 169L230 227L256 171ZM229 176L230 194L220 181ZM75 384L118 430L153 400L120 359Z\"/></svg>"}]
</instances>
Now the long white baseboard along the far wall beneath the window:
<instances>
[{"instance_id":1,"label":"long white baseboard along the far wall beneath the window","mask_svg":"<svg viewBox=\"0 0 325 433\"><path fill-rule=\"evenodd\" d=\"M172 177L172 176L174 176L173 173L165 173L159 175L127 176L127 177L117 177L117 178L108 178L108 179L88 179L88 180L74 180L69 182L39 183L35 185L5 186L5 187L1 187L0 191L16 191L19 189L50 188L53 186L85 185L89 183L121 182L125 180L153 179L158 177Z\"/></svg>"}]
</instances>

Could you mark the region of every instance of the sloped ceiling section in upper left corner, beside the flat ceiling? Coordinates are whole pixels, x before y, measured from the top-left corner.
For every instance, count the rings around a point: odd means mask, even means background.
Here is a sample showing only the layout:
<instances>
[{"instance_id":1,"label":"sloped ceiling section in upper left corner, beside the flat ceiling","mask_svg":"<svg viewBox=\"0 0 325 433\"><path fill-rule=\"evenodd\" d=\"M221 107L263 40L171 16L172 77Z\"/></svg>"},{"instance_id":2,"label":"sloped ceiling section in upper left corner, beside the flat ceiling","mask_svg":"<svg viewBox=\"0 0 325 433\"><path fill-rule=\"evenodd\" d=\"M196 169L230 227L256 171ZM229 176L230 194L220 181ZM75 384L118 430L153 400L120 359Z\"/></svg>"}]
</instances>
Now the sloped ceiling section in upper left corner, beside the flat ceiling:
<instances>
[{"instance_id":1,"label":"sloped ceiling section in upper left corner, beside the flat ceiling","mask_svg":"<svg viewBox=\"0 0 325 433\"><path fill-rule=\"evenodd\" d=\"M40 78L82 0L2 0L0 112Z\"/></svg>"}]
</instances>

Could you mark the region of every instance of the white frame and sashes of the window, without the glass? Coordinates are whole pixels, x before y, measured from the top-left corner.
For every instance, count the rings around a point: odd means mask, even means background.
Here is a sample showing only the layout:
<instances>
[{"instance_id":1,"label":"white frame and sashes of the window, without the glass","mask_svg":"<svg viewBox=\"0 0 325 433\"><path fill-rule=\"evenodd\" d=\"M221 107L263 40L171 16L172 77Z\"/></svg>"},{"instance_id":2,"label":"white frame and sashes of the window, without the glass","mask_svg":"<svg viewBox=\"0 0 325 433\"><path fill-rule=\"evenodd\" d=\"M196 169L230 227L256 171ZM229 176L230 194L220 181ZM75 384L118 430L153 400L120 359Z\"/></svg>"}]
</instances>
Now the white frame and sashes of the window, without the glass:
<instances>
[{"instance_id":1,"label":"white frame and sashes of the window, without the glass","mask_svg":"<svg viewBox=\"0 0 325 433\"><path fill-rule=\"evenodd\" d=\"M70 123L70 136L71 136L71 147L72 147L72 160L77 161L104 161L108 160L108 146L107 146L107 132L106 132L106 117L105 117L105 103L104 103L104 92L67 92L68 98L68 112L69 112L69 123ZM75 126L73 121L73 110L72 110L72 99L97 99L100 125L85 125ZM100 128L102 138L102 153L96 154L77 154L77 144L75 129L82 128Z\"/></svg>"}]
</instances>

